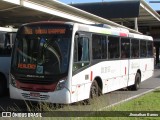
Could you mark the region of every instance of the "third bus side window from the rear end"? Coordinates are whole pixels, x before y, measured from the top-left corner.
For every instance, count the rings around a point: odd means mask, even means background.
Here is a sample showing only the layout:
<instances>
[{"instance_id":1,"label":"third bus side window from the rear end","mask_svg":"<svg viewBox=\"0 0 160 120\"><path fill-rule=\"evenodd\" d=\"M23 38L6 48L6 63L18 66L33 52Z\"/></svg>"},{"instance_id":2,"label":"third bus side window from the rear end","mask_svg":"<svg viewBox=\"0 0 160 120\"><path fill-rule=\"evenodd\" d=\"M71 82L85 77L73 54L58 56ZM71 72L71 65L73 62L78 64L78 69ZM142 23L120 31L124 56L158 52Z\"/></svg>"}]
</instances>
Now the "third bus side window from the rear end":
<instances>
[{"instance_id":1,"label":"third bus side window from the rear end","mask_svg":"<svg viewBox=\"0 0 160 120\"><path fill-rule=\"evenodd\" d=\"M139 40L131 40L131 58L139 58Z\"/></svg>"}]
</instances>

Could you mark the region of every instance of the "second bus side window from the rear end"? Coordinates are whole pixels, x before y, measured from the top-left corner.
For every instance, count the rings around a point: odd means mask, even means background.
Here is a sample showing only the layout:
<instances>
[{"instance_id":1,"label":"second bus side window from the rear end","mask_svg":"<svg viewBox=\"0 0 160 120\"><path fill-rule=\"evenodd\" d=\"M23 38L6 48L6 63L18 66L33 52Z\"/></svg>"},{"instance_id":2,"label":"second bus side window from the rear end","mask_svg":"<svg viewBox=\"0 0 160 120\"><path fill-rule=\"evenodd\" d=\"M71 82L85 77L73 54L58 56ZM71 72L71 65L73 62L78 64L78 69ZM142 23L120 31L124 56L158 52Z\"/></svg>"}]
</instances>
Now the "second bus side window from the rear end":
<instances>
[{"instance_id":1,"label":"second bus side window from the rear end","mask_svg":"<svg viewBox=\"0 0 160 120\"><path fill-rule=\"evenodd\" d=\"M147 46L146 46L146 41L144 40L140 41L140 56L141 57L147 56Z\"/></svg>"}]
</instances>

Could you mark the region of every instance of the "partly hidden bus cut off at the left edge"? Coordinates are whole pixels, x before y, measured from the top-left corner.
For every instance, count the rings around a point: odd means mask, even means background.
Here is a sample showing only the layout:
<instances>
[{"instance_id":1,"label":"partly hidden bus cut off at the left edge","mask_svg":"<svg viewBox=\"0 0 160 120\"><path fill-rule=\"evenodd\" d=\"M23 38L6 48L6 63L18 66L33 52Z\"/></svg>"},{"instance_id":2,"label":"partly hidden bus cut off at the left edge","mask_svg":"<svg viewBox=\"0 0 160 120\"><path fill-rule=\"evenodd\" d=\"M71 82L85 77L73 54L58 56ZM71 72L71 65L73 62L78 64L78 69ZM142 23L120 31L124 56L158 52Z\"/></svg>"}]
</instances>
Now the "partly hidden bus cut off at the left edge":
<instances>
[{"instance_id":1,"label":"partly hidden bus cut off at the left edge","mask_svg":"<svg viewBox=\"0 0 160 120\"><path fill-rule=\"evenodd\" d=\"M8 88L11 50L17 29L0 27L0 96Z\"/></svg>"}]
</instances>

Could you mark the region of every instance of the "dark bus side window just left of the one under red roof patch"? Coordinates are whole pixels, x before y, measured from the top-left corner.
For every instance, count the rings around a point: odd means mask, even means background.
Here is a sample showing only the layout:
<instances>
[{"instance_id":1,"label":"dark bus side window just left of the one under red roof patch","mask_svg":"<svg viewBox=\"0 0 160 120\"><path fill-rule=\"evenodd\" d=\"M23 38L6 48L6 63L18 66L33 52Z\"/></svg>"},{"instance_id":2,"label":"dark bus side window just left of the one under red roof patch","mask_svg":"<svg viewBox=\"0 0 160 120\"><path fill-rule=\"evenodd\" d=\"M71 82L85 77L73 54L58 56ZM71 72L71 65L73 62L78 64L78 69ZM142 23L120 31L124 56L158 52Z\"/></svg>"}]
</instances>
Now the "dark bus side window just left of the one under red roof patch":
<instances>
[{"instance_id":1,"label":"dark bus side window just left of the one under red roof patch","mask_svg":"<svg viewBox=\"0 0 160 120\"><path fill-rule=\"evenodd\" d=\"M108 36L108 59L117 59L119 57L119 37Z\"/></svg>"}]
</instances>

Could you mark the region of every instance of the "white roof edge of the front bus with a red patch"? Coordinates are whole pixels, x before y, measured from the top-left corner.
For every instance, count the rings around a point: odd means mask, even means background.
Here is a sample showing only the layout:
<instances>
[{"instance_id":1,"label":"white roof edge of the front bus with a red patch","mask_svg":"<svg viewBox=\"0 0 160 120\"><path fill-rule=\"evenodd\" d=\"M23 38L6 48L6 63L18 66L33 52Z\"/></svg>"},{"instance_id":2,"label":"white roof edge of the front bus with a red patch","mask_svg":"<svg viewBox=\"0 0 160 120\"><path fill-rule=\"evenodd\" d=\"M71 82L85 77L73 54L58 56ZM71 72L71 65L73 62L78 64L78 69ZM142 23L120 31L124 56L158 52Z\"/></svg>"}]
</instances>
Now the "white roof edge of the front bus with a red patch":
<instances>
[{"instance_id":1,"label":"white roof edge of the front bus with a red patch","mask_svg":"<svg viewBox=\"0 0 160 120\"><path fill-rule=\"evenodd\" d=\"M86 31L86 32L93 32L93 33L100 33L100 34L108 34L108 35L114 35L114 36L120 36L120 37L128 37L128 38L135 38L135 39L145 39L145 40L153 40L151 36L142 35L142 34L136 34L136 33L130 33L127 29L119 28L119 27L113 27L107 24L81 24L81 23L74 23L74 22L64 22L64 21L39 21L39 22L32 22L23 24L23 26L26 25L33 25L33 24L69 24L74 25L78 27L78 30L80 31Z\"/></svg>"}]
</instances>

